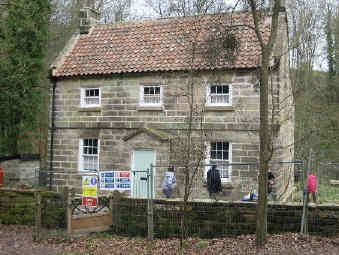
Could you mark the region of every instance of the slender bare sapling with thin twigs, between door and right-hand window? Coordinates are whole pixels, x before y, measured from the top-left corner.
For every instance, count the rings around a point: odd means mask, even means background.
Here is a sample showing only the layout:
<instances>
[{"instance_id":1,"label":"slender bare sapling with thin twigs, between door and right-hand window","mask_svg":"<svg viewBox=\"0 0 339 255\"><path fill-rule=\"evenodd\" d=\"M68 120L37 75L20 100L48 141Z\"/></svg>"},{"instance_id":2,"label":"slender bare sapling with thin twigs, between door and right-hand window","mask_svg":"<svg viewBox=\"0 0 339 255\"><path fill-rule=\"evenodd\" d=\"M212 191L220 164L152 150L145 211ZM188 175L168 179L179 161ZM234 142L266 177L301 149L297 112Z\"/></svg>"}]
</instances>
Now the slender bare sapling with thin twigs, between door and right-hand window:
<instances>
[{"instance_id":1,"label":"slender bare sapling with thin twigs, between door and right-hand window","mask_svg":"<svg viewBox=\"0 0 339 255\"><path fill-rule=\"evenodd\" d=\"M233 60L234 51L239 46L234 31L221 29L215 24L215 29L207 30L204 26L206 19L202 16L185 18L185 26L176 26L176 43L181 45L187 55L187 71L185 86L178 95L185 98L188 107L184 128L172 139L172 162L181 167L183 177L183 207L181 217L180 247L186 238L187 205L195 183L201 181L205 160L206 127L204 122L205 97L199 94L204 91L207 80L199 76L197 66L201 58L211 67L219 64L218 60ZM204 35L204 36L203 36ZM208 35L206 37L206 35ZM204 39L202 39L204 38ZM207 39L206 39L207 38Z\"/></svg>"}]
</instances>

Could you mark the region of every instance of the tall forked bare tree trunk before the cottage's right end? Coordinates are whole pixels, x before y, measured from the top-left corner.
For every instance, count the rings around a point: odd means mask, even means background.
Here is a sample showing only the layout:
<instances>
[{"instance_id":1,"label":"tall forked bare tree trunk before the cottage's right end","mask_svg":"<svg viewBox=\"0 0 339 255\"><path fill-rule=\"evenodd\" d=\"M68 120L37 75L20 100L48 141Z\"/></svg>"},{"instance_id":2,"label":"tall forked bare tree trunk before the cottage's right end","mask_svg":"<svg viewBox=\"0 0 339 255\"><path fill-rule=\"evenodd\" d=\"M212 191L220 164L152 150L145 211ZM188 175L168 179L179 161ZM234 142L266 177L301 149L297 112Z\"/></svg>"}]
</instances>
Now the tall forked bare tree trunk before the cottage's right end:
<instances>
[{"instance_id":1,"label":"tall forked bare tree trunk before the cottage's right end","mask_svg":"<svg viewBox=\"0 0 339 255\"><path fill-rule=\"evenodd\" d=\"M260 2L260 1L259 1ZM269 79L270 79L270 61L274 50L274 45L278 31L278 19L281 10L280 0L272 3L271 33L268 41L265 41L261 34L261 24L258 1L247 0L250 6L254 29L261 47L261 65L259 67L260 81L260 154L259 154L259 200L257 204L257 223L256 223L256 242L263 246L267 240L267 172L269 161L272 156L271 134L272 129L269 126ZM261 3L262 4L262 3Z\"/></svg>"}]
</instances>

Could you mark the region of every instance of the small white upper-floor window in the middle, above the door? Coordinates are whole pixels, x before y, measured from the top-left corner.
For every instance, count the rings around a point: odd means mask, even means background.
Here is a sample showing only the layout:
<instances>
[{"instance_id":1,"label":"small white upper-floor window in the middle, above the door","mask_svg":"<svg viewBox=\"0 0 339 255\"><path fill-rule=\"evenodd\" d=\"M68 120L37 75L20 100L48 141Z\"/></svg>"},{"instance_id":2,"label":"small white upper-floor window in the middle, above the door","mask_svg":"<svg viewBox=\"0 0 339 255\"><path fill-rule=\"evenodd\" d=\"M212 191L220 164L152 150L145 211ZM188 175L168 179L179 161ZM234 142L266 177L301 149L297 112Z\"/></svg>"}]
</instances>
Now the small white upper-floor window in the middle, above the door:
<instances>
[{"instance_id":1,"label":"small white upper-floor window in the middle, above the door","mask_svg":"<svg viewBox=\"0 0 339 255\"><path fill-rule=\"evenodd\" d=\"M161 106L162 86L160 85L140 86L140 105Z\"/></svg>"}]
</instances>

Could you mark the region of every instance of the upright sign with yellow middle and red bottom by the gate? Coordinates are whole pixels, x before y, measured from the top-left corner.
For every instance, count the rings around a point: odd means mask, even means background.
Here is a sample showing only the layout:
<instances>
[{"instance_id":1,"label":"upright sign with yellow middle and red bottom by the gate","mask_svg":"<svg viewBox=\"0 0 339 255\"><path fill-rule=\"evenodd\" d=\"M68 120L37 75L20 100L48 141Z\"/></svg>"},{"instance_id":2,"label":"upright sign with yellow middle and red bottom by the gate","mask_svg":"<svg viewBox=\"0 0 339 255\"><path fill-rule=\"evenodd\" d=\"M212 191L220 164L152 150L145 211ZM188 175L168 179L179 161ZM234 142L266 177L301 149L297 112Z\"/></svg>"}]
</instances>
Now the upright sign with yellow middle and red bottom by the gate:
<instances>
[{"instance_id":1,"label":"upright sign with yellow middle and red bottom by the gate","mask_svg":"<svg viewBox=\"0 0 339 255\"><path fill-rule=\"evenodd\" d=\"M98 205L98 177L93 175L82 176L82 205Z\"/></svg>"}]
</instances>

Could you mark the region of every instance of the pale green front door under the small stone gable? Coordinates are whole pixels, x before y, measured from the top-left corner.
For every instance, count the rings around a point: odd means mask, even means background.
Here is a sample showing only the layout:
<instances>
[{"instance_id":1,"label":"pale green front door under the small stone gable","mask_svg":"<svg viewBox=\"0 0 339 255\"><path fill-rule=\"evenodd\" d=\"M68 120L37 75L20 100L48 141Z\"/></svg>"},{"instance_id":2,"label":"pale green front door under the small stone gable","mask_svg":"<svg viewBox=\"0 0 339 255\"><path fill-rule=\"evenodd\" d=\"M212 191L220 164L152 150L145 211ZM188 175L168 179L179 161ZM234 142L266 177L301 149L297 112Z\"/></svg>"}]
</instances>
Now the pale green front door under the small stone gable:
<instances>
[{"instance_id":1,"label":"pale green front door under the small stone gable","mask_svg":"<svg viewBox=\"0 0 339 255\"><path fill-rule=\"evenodd\" d=\"M133 190L132 196L137 198L147 198L147 169L151 164L155 165L155 152L151 150L136 150L133 152L132 172ZM154 177L154 169L153 169ZM152 178L154 180L154 178ZM153 186L153 183L151 184ZM154 196L154 194L153 194Z\"/></svg>"}]
</instances>

